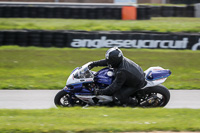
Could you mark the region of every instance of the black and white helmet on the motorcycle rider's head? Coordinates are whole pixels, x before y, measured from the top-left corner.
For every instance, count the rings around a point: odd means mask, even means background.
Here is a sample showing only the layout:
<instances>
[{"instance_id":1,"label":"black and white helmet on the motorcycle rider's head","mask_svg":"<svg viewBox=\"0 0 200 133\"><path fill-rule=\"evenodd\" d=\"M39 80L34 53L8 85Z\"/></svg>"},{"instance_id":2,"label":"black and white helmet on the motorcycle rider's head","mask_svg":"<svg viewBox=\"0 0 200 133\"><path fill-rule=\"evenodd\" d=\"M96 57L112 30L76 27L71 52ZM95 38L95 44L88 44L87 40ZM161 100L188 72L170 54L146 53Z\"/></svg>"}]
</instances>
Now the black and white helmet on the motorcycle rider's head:
<instances>
[{"instance_id":1,"label":"black and white helmet on the motorcycle rider's head","mask_svg":"<svg viewBox=\"0 0 200 133\"><path fill-rule=\"evenodd\" d=\"M105 56L108 66L113 68L118 67L123 59L123 53L117 47L109 49Z\"/></svg>"}]
</instances>

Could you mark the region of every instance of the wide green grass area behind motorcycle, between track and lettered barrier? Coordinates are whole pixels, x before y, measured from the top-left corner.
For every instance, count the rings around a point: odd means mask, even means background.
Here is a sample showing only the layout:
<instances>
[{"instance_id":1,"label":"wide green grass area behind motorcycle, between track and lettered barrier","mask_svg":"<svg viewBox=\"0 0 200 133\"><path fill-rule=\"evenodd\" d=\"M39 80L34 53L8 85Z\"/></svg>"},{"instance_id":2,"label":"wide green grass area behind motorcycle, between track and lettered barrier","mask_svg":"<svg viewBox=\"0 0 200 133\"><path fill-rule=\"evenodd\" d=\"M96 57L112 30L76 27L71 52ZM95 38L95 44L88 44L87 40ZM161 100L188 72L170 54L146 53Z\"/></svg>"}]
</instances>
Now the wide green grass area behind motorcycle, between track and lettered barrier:
<instances>
[{"instance_id":1,"label":"wide green grass area behind motorcycle, between track and lettered barrier","mask_svg":"<svg viewBox=\"0 0 200 133\"><path fill-rule=\"evenodd\" d=\"M107 49L0 47L0 89L61 89L71 71L105 58ZM200 89L200 51L122 49L143 70L161 66L172 71L169 89ZM99 70L95 68L94 70Z\"/></svg>"}]
</instances>

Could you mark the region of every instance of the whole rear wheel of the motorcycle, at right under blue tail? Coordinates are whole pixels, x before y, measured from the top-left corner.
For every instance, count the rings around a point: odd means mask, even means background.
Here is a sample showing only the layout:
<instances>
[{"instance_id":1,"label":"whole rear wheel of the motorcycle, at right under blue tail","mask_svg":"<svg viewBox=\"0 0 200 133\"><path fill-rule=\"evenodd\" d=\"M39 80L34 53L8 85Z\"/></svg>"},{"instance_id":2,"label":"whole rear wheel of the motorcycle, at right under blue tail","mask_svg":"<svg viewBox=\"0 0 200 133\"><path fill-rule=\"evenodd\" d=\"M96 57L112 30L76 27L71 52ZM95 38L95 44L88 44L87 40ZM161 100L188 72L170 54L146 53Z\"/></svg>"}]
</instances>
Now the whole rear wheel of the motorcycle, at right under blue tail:
<instances>
[{"instance_id":1,"label":"whole rear wheel of the motorcycle, at right under blue tail","mask_svg":"<svg viewBox=\"0 0 200 133\"><path fill-rule=\"evenodd\" d=\"M143 98L140 99L140 106L164 107L169 102L169 99L170 92L165 86L149 87L143 90Z\"/></svg>"}]
</instances>

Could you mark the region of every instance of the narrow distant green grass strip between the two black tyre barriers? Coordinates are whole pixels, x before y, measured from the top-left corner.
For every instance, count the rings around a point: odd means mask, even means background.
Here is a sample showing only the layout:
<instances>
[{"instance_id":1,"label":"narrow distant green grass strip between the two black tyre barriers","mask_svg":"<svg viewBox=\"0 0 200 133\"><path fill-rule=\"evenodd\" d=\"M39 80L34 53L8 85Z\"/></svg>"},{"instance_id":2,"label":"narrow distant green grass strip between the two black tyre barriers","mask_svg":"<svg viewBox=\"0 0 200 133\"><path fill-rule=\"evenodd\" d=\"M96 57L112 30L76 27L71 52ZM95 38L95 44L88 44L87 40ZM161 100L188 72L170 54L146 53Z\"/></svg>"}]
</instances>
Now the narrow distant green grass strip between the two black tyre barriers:
<instances>
[{"instance_id":1,"label":"narrow distant green grass strip between the two black tyre barriers","mask_svg":"<svg viewBox=\"0 0 200 133\"><path fill-rule=\"evenodd\" d=\"M200 18L152 18L151 20L84 20L0 18L0 30L86 30L200 32Z\"/></svg>"}]
</instances>

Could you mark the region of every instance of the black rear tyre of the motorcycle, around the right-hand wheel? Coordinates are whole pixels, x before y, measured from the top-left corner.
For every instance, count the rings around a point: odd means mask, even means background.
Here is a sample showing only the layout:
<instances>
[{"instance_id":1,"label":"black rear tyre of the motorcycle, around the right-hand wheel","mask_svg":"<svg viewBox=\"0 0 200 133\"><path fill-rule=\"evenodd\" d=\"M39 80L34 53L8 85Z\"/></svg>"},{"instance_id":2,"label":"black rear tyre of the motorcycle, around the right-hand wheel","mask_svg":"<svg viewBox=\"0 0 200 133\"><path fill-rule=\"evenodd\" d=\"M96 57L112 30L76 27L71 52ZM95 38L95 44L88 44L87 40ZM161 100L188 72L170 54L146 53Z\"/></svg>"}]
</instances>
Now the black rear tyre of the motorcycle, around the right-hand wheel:
<instances>
[{"instance_id":1,"label":"black rear tyre of the motorcycle, around the right-hand wheel","mask_svg":"<svg viewBox=\"0 0 200 133\"><path fill-rule=\"evenodd\" d=\"M146 96L151 96L151 95L161 96L161 98L157 97L159 99L159 102L157 102L157 104L150 104L147 107L164 107L165 105L167 105L170 99L170 92L163 85L157 85L154 87L145 88L144 93Z\"/></svg>"}]
</instances>

